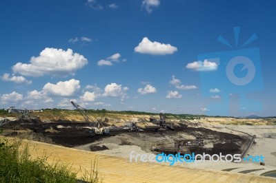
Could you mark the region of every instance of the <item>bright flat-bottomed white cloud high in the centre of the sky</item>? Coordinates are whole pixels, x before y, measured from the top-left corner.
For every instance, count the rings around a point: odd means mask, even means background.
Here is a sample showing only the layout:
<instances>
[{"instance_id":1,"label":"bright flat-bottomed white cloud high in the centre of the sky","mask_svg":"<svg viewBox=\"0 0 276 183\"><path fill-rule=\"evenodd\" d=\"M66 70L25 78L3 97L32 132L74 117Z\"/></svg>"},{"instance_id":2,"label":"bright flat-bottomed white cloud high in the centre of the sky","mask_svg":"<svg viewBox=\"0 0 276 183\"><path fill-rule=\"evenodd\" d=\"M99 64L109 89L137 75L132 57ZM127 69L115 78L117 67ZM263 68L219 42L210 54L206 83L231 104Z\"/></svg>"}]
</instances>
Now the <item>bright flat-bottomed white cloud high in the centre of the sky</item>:
<instances>
[{"instance_id":1,"label":"bright flat-bottomed white cloud high in the centre of the sky","mask_svg":"<svg viewBox=\"0 0 276 183\"><path fill-rule=\"evenodd\" d=\"M150 41L147 37L135 47L135 52L141 54L154 54L154 55L164 55L164 54L173 54L177 51L177 47L174 47L170 44L159 43L157 41Z\"/></svg>"}]
</instances>

